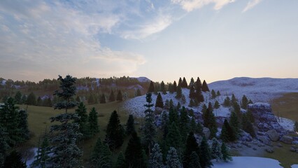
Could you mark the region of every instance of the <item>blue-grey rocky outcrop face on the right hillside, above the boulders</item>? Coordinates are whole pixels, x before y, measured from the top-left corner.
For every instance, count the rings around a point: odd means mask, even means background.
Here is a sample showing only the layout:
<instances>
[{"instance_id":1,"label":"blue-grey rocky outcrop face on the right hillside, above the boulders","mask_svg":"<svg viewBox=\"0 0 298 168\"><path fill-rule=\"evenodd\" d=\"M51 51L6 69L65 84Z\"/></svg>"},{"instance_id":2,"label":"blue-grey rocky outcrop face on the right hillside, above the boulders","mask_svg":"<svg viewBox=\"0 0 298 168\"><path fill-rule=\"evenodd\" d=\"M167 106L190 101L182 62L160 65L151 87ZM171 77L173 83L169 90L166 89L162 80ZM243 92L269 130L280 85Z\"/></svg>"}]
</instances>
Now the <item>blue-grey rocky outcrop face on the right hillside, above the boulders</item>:
<instances>
[{"instance_id":1,"label":"blue-grey rocky outcrop face on the right hillside, above the boulders","mask_svg":"<svg viewBox=\"0 0 298 168\"><path fill-rule=\"evenodd\" d=\"M286 134L287 132L281 127L276 120L270 104L255 103L248 104L248 110L253 113L255 123L260 132L268 132L269 130L276 130L279 134Z\"/></svg>"}]
</instances>

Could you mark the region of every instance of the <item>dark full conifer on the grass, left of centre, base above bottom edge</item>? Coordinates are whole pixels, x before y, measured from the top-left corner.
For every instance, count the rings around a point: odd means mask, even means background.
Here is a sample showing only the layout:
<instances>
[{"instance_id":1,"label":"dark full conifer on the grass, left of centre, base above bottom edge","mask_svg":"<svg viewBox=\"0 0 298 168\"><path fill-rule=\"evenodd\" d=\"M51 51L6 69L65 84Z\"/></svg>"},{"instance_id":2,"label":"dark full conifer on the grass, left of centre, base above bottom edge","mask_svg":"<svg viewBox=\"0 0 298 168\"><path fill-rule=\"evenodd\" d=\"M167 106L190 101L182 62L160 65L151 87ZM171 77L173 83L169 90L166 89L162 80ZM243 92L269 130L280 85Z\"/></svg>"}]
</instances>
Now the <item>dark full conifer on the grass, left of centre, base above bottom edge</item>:
<instances>
[{"instance_id":1,"label":"dark full conifer on the grass, left of centre, base above bottom edge","mask_svg":"<svg viewBox=\"0 0 298 168\"><path fill-rule=\"evenodd\" d=\"M106 127L106 143L112 151L122 146L125 130L120 124L117 111L113 111Z\"/></svg>"}]
</instances>

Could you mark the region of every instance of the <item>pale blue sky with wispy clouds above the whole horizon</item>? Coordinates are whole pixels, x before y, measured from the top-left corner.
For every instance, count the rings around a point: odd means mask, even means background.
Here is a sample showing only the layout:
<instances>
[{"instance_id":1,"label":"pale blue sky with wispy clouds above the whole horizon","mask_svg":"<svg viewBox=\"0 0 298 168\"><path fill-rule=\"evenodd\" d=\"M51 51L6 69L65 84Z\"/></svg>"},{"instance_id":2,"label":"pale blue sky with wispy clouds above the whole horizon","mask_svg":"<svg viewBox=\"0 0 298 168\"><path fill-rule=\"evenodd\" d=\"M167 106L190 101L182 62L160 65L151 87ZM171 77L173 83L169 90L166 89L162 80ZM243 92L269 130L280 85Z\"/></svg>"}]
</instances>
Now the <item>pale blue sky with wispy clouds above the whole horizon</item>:
<instances>
[{"instance_id":1,"label":"pale blue sky with wispy clouds above the whole horizon","mask_svg":"<svg viewBox=\"0 0 298 168\"><path fill-rule=\"evenodd\" d=\"M1 0L0 77L298 78L297 0Z\"/></svg>"}]
</instances>

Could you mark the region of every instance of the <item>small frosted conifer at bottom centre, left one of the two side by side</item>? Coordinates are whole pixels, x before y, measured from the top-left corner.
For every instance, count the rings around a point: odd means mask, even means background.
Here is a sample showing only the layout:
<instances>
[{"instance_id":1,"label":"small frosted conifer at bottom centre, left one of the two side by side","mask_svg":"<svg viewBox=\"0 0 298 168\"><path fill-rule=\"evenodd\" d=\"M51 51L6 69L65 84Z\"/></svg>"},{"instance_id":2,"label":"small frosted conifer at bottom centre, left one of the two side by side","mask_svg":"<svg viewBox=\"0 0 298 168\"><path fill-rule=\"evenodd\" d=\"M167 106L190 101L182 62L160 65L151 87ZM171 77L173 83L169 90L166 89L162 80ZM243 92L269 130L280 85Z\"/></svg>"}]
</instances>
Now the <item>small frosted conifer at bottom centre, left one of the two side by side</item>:
<instances>
[{"instance_id":1,"label":"small frosted conifer at bottom centre, left one of the two side by side","mask_svg":"<svg viewBox=\"0 0 298 168\"><path fill-rule=\"evenodd\" d=\"M150 155L149 166L150 168L163 168L162 163L162 151L159 148L159 144L155 144L152 148Z\"/></svg>"}]
</instances>

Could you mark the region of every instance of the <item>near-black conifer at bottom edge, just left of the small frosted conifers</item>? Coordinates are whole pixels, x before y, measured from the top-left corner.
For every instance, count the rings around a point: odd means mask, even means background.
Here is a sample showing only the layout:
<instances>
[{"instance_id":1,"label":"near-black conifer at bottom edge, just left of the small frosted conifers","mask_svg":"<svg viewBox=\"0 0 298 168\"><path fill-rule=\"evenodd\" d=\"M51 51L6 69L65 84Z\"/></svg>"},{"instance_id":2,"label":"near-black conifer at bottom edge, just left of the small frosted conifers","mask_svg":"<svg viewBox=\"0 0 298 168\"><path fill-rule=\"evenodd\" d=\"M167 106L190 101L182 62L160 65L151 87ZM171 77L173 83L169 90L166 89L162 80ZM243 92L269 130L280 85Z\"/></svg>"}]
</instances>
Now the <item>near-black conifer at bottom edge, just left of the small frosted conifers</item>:
<instances>
[{"instance_id":1,"label":"near-black conifer at bottom edge, just left of the small frosted conifers","mask_svg":"<svg viewBox=\"0 0 298 168\"><path fill-rule=\"evenodd\" d=\"M142 153L140 138L133 132L125 150L126 167L146 167Z\"/></svg>"}]
</instances>

